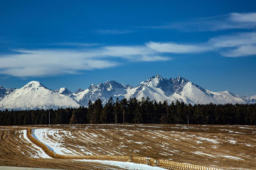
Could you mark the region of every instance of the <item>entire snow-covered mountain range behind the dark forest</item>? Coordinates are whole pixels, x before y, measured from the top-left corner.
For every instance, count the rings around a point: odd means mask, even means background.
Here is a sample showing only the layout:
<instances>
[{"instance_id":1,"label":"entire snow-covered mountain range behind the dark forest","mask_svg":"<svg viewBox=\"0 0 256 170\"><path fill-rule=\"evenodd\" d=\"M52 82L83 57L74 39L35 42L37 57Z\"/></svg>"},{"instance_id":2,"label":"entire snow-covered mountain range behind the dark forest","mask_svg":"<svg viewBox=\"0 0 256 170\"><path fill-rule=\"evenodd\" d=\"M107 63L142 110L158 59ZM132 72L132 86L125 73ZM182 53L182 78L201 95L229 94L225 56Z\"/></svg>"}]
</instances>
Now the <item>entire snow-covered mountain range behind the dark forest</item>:
<instances>
[{"instance_id":1,"label":"entire snow-covered mountain range behind the dark forest","mask_svg":"<svg viewBox=\"0 0 256 170\"><path fill-rule=\"evenodd\" d=\"M20 89L4 89L0 86L0 109L35 110L76 108L87 106L89 101L100 99L106 104L109 98L118 99L149 97L157 102L182 101L186 104L226 104L256 103L256 96L246 97L232 92L212 92L192 83L186 78L177 77L166 79L159 74L142 81L137 87L122 85L116 81L106 81L97 85L90 85L88 89L78 89L72 93L63 87L51 90L38 81L31 81Z\"/></svg>"}]
</instances>

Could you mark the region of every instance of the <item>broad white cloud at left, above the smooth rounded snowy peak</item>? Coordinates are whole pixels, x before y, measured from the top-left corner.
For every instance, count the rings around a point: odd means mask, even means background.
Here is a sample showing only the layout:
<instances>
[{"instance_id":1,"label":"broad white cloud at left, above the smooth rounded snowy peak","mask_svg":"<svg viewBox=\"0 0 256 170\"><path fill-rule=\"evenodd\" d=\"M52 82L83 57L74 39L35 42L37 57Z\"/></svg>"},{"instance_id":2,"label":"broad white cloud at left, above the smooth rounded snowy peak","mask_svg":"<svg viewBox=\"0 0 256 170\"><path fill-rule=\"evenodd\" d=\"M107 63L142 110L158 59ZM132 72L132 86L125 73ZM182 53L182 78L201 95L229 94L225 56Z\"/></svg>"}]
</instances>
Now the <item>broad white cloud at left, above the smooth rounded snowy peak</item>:
<instances>
[{"instance_id":1,"label":"broad white cloud at left, above the smooth rounded snowy peak","mask_svg":"<svg viewBox=\"0 0 256 170\"><path fill-rule=\"evenodd\" d=\"M49 76L78 73L81 70L103 69L117 62L87 58L84 52L63 50L20 51L17 55L0 57L0 73L12 76Z\"/></svg>"}]
</instances>

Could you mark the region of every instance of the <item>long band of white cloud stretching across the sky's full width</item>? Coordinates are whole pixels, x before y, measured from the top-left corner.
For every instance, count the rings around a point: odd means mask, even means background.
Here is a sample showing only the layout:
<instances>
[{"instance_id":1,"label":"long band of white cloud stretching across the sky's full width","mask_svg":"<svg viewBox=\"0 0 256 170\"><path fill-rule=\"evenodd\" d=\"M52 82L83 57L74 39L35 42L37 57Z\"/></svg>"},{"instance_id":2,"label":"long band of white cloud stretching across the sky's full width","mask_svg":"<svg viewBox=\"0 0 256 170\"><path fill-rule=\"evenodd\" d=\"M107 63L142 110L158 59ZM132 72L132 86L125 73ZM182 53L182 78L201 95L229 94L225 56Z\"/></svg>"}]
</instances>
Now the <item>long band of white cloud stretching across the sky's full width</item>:
<instances>
[{"instance_id":1,"label":"long band of white cloud stretching across the sky's full width","mask_svg":"<svg viewBox=\"0 0 256 170\"><path fill-rule=\"evenodd\" d=\"M247 20L253 18L246 17ZM245 20L239 18L239 20ZM216 52L223 57L256 55L256 32L216 36L204 43L175 43L149 41L144 45L102 46L81 45L84 48L16 50L0 56L0 74L12 76L52 76L78 74L84 70L106 69L124 62L156 62L172 59L169 55Z\"/></svg>"}]
</instances>

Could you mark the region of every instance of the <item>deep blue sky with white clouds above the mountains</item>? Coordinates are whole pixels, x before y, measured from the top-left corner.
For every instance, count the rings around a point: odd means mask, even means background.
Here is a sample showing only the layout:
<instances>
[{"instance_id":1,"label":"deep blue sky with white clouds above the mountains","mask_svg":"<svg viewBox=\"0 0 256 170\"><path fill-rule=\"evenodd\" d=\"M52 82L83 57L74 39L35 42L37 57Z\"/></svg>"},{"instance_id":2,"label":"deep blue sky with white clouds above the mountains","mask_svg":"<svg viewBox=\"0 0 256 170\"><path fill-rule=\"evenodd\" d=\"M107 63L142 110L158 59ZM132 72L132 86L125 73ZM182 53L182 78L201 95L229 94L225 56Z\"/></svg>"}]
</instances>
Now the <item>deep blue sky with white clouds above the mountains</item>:
<instances>
[{"instance_id":1,"label":"deep blue sky with white clouds above the mountains","mask_svg":"<svg viewBox=\"0 0 256 170\"><path fill-rule=\"evenodd\" d=\"M86 89L155 74L256 94L256 1L1 1L0 85Z\"/></svg>"}]
</instances>

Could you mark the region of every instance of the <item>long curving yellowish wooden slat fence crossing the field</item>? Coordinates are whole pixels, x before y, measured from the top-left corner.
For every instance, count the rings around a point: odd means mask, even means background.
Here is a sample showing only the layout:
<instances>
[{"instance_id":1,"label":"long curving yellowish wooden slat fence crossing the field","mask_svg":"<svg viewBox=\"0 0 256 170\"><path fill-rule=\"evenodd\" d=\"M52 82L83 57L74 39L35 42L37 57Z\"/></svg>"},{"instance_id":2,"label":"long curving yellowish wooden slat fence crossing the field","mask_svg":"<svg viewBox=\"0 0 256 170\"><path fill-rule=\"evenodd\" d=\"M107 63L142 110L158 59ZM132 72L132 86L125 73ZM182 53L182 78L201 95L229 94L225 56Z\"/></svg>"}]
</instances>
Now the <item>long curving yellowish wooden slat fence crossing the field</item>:
<instances>
[{"instance_id":1,"label":"long curving yellowish wooden slat fence crossing the field","mask_svg":"<svg viewBox=\"0 0 256 170\"><path fill-rule=\"evenodd\" d=\"M28 128L27 136L29 140L35 145L40 146L44 152L52 158L55 159L91 159L91 160L112 160L112 161L120 161L120 162L134 162L136 164L146 164L150 166L163 167L165 169L172 170L220 170L214 167L205 167L205 166L196 166L193 164L186 164L180 162L173 162L170 160L161 160L161 159L152 159L146 157L129 157L129 156L116 156L116 155L84 155L84 156L76 156L76 155L60 155L58 153L54 153L44 143L38 141L33 138L31 135L31 128Z\"/></svg>"}]
</instances>

